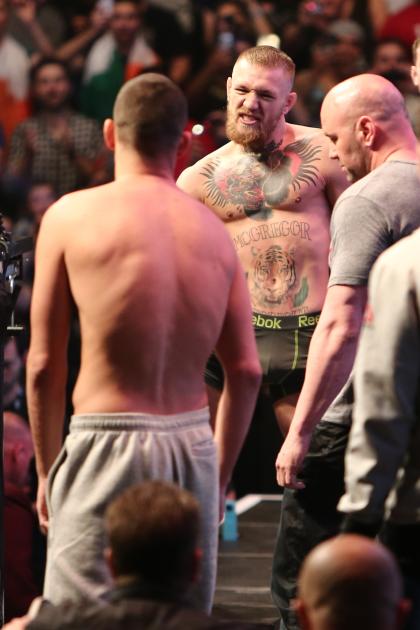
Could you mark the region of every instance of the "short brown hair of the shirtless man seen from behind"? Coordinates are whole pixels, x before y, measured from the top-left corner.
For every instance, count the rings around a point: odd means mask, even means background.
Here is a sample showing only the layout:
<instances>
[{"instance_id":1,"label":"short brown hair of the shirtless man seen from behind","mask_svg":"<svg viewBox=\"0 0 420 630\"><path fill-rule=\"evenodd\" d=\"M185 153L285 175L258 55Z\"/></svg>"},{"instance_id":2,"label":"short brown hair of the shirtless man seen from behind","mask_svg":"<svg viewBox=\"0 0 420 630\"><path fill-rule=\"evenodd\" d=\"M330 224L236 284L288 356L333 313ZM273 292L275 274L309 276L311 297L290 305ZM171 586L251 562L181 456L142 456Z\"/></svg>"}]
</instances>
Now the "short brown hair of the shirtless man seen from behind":
<instances>
[{"instance_id":1,"label":"short brown hair of the shirtless man seen from behind","mask_svg":"<svg viewBox=\"0 0 420 630\"><path fill-rule=\"evenodd\" d=\"M154 72L128 81L114 104L118 140L152 159L175 151L187 115L187 101L180 88Z\"/></svg>"}]
</instances>

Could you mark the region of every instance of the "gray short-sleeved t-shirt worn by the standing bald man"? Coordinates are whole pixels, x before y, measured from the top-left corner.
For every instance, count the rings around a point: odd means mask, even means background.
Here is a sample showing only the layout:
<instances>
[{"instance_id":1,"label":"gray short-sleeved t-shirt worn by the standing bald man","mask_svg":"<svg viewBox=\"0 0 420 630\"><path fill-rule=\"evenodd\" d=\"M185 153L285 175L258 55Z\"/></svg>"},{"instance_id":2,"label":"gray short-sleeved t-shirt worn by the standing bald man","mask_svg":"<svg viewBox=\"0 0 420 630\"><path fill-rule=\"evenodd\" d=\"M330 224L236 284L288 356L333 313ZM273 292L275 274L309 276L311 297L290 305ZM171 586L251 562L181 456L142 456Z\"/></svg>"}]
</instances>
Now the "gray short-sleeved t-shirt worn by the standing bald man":
<instances>
[{"instance_id":1,"label":"gray short-sleeved t-shirt worn by the standing bald man","mask_svg":"<svg viewBox=\"0 0 420 630\"><path fill-rule=\"evenodd\" d=\"M328 286L367 285L369 272L379 254L418 227L417 164L385 162L344 191L334 206ZM353 402L350 375L322 419L350 424Z\"/></svg>"}]
</instances>

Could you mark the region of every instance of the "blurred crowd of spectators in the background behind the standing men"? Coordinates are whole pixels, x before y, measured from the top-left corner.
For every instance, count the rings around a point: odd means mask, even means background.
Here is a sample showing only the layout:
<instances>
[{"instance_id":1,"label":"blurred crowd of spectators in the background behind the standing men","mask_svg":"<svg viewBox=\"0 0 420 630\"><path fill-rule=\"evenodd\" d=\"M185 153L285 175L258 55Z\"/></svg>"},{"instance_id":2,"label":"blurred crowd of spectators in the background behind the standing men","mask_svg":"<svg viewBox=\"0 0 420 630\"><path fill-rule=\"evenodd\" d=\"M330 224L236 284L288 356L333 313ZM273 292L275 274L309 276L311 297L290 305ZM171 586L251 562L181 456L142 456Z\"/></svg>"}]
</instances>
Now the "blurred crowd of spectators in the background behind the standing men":
<instances>
[{"instance_id":1,"label":"blurred crowd of spectators in the background behind the standing men","mask_svg":"<svg viewBox=\"0 0 420 630\"><path fill-rule=\"evenodd\" d=\"M420 96L410 66L419 35L420 2L410 0L0 0L5 226L15 239L36 239L55 199L112 178L101 125L124 81L142 72L167 74L188 98L193 141L179 168L221 146L227 141L226 79L238 54L258 43L281 47L296 63L298 102L289 122L319 126L328 90L373 72L404 94L416 128ZM17 305L26 331L5 350L6 618L26 611L42 581L24 395L33 267L28 254ZM77 338L75 321L69 393Z\"/></svg>"}]
</instances>

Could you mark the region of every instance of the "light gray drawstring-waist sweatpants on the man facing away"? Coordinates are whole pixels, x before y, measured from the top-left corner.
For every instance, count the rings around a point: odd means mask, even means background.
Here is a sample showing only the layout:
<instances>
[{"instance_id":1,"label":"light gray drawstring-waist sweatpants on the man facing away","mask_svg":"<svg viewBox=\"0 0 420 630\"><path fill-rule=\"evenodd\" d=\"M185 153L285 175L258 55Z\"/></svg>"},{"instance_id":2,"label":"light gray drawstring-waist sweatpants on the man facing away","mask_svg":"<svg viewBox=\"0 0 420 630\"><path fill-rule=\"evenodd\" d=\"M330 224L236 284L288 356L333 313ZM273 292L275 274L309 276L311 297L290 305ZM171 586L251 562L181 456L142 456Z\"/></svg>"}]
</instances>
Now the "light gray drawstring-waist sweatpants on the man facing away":
<instances>
[{"instance_id":1,"label":"light gray drawstring-waist sweatpants on the man facing away","mask_svg":"<svg viewBox=\"0 0 420 630\"><path fill-rule=\"evenodd\" d=\"M209 611L218 536L218 469L208 409L183 414L73 416L48 478L50 517L44 597L101 598L111 586L104 561L103 516L125 488L149 479L173 481L201 505L202 577L193 603Z\"/></svg>"}]
</instances>

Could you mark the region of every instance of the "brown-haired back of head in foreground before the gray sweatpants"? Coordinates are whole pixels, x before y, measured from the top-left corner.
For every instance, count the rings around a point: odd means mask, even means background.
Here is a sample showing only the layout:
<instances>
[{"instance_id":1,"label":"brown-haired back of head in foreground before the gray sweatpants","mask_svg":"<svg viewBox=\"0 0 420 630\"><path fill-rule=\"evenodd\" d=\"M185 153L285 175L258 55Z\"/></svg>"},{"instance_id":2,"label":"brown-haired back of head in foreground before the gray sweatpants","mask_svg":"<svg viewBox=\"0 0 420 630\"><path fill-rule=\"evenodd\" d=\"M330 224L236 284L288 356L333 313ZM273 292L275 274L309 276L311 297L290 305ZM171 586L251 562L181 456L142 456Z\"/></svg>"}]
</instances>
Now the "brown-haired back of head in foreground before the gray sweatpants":
<instances>
[{"instance_id":1,"label":"brown-haired back of head in foreground before the gray sweatpants","mask_svg":"<svg viewBox=\"0 0 420 630\"><path fill-rule=\"evenodd\" d=\"M123 492L108 507L105 529L118 576L182 594L191 581L199 534L199 505L175 484L148 481Z\"/></svg>"}]
</instances>

